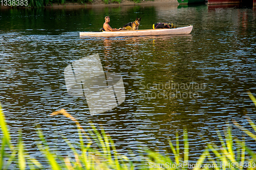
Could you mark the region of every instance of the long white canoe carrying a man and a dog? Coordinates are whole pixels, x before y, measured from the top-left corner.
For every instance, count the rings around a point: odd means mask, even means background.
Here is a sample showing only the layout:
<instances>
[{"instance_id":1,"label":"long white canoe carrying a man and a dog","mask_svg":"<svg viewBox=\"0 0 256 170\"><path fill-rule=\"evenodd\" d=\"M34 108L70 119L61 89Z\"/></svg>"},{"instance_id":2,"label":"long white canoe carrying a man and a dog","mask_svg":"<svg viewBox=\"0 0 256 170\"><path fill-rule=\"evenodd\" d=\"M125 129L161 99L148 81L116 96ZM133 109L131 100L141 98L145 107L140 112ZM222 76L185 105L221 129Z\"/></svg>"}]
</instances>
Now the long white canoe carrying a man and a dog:
<instances>
[{"instance_id":1,"label":"long white canoe carrying a man and a dog","mask_svg":"<svg viewBox=\"0 0 256 170\"><path fill-rule=\"evenodd\" d=\"M112 36L145 36L145 35L177 35L189 34L193 26L179 27L175 29L150 29L150 30L126 30L126 31L103 31L103 32L80 32L81 36L112 37Z\"/></svg>"}]
</instances>

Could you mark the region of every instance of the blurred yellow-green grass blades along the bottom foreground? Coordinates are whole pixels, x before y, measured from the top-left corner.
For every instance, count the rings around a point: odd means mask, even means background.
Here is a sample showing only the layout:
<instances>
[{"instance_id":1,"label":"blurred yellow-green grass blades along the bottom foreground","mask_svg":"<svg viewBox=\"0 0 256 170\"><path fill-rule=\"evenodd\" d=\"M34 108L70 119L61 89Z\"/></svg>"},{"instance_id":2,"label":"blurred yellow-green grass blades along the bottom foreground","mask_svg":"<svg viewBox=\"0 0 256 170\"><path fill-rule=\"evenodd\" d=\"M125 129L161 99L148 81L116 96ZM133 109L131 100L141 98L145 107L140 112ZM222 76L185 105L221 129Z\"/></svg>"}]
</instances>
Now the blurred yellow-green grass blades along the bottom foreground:
<instances>
[{"instance_id":1,"label":"blurred yellow-green grass blades along the bottom foreground","mask_svg":"<svg viewBox=\"0 0 256 170\"><path fill-rule=\"evenodd\" d=\"M248 92L251 100L256 106L256 99ZM80 126L79 122L66 110L53 112L51 115L62 114L73 120L77 125L80 139L79 149L75 149L73 144L66 138L65 141L72 150L74 158L56 155L50 151L45 141L44 134L37 128L40 142L37 147L44 155L48 166L52 169L256 169L256 153L249 149L245 139L238 139L232 136L231 128L227 125L224 136L217 131L221 146L214 143L206 144L206 148L197 160L196 164L189 163L189 143L187 131L184 129L182 145L179 141L179 134L176 133L176 143L169 141L170 149L174 154L174 159L163 156L157 152L145 150L145 154L140 156L140 161L131 161L133 154L129 158L117 152L111 137L103 129L97 130L93 124L87 129L88 134ZM256 125L247 118L252 127L252 132L243 128L237 122L233 122L245 134L256 141ZM31 157L24 150L22 136L19 137L17 145L13 145L10 132L7 128L5 116L0 105L0 126L2 129L2 141L0 151L0 169L9 169L14 164L19 169L44 169L39 161ZM84 141L84 136L86 141ZM92 144L95 147L92 147ZM181 146L184 148L181 152ZM207 164L206 164L207 163ZM206 166L205 166L206 165Z\"/></svg>"}]
</instances>

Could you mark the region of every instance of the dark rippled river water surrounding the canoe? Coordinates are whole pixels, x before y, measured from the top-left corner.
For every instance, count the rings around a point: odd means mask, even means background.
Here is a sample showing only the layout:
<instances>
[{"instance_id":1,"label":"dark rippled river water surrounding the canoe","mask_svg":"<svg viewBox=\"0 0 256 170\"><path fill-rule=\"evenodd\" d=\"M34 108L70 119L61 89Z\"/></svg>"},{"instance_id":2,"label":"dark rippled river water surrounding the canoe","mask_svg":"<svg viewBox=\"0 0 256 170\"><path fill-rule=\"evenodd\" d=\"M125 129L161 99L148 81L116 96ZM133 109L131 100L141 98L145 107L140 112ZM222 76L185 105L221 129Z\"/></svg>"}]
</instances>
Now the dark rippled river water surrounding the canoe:
<instances>
[{"instance_id":1,"label":"dark rippled river water surrounding the canoe","mask_svg":"<svg viewBox=\"0 0 256 170\"><path fill-rule=\"evenodd\" d=\"M206 142L219 143L216 128L232 126L234 136L249 128L245 115L255 121L256 11L239 6L122 6L79 9L0 10L0 101L12 140L22 130L26 150L40 159L36 125L60 155L69 148L62 136L79 143L75 123L103 127L119 152L135 154L141 148L171 153L168 140L182 139L188 129L191 160ZM80 38L79 32L98 31L104 16L119 28L142 17L139 29L156 22L193 25L188 35ZM85 98L70 95L65 68L72 62L99 54L105 72L122 76L125 100L116 108L91 115ZM203 138L205 139L203 139ZM246 137L247 144L256 147ZM181 142L182 144L182 142Z\"/></svg>"}]
</instances>

